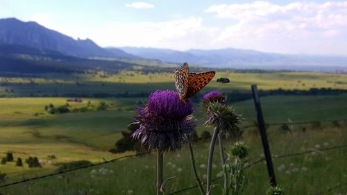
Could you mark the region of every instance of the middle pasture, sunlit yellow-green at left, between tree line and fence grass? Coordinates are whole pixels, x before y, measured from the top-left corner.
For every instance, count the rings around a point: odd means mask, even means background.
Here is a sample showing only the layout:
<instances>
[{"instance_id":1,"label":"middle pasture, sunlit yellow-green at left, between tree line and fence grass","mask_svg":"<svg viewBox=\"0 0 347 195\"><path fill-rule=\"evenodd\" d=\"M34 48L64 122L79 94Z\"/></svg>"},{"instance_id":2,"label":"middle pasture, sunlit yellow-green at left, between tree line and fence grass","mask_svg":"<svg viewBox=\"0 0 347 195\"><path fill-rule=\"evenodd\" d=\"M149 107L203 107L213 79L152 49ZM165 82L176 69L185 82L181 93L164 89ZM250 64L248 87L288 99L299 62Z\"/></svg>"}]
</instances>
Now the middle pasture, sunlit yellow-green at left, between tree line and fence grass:
<instances>
[{"instance_id":1,"label":"middle pasture, sunlit yellow-green at left, between tree line and fence grass","mask_svg":"<svg viewBox=\"0 0 347 195\"><path fill-rule=\"evenodd\" d=\"M347 94L266 96L261 98L261 102L266 123L273 124L347 119L346 99ZM37 156L44 162L42 169L6 164L0 165L0 171L8 173L10 180L15 180L19 175L33 176L33 173L53 171L60 162L102 162L103 158L111 159L123 155L109 153L108 149L115 145L116 140L121 137L120 132L126 130L126 126L133 121L135 105L141 106L146 99L83 99L82 103L69 102L69 105L71 108L81 108L87 105L87 101L92 105L105 101L110 108L105 111L51 115L44 111L44 105L65 105L66 98L0 99L0 154L12 151L15 158L18 155L21 158ZM242 126L254 123L256 115L252 100L238 102L233 106L246 119ZM198 119L198 134L203 130L211 131L211 128L203 125L205 116L200 106L194 104L194 108L194 115ZM322 128L329 128L330 125L331 123L323 123ZM310 126L307 124L307 128ZM278 126L270 127L278 129ZM246 135L244 138L248 139L253 134ZM287 144L285 139L282 142ZM53 160L48 158L48 155L56 155L57 158Z\"/></svg>"}]
</instances>

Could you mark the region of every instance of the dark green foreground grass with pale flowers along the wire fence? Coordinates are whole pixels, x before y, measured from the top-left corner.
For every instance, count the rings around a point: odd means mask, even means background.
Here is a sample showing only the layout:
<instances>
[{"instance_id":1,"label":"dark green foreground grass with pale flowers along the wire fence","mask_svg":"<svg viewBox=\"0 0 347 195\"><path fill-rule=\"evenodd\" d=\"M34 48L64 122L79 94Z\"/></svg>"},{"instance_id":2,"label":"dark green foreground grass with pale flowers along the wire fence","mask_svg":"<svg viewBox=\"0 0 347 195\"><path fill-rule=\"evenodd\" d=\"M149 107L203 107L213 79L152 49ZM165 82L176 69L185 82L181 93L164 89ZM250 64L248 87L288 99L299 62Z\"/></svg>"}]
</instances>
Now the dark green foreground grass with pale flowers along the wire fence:
<instances>
[{"instance_id":1,"label":"dark green foreground grass with pale flowers along the wire fence","mask_svg":"<svg viewBox=\"0 0 347 195\"><path fill-rule=\"evenodd\" d=\"M303 126L294 126L291 134L282 133L278 130L278 126L271 127L268 134L273 155L315 149L318 147L316 145L323 148L345 144L347 140L346 127L314 130L307 126L306 132L303 132L301 127ZM259 159L262 156L260 137L251 130L245 133L243 140L251 150L247 160L253 162ZM227 149L230 144L230 141L226 142ZM198 142L194 144L194 150L198 173L201 178L204 178L207 170L203 164L207 164L208 143ZM212 170L214 177L221 172L218 155L217 152L214 158L214 164L216 164ZM273 160L273 163L278 184L285 188L286 194L315 194L325 191L328 187L346 182L346 160L346 149L337 149L293 158L276 159ZM195 185L186 147L176 153L166 153L164 164L164 177L175 176L164 187L168 193ZM282 166L285 169L279 169ZM103 171L104 169L108 171ZM178 171L178 169L183 169L183 171ZM264 194L269 187L265 164L260 163L247 169L246 175L248 187L245 194ZM221 194L222 181L218 180L215 184L213 194ZM341 187L328 194L346 192L346 189L346 187ZM74 173L65 173L61 176L19 184L7 187L1 192L45 194L46 190L49 190L51 194L131 194L130 192L133 194L155 194L155 154L141 158L129 158L90 169L81 169ZM182 194L199 193L198 189L192 189Z\"/></svg>"}]
</instances>

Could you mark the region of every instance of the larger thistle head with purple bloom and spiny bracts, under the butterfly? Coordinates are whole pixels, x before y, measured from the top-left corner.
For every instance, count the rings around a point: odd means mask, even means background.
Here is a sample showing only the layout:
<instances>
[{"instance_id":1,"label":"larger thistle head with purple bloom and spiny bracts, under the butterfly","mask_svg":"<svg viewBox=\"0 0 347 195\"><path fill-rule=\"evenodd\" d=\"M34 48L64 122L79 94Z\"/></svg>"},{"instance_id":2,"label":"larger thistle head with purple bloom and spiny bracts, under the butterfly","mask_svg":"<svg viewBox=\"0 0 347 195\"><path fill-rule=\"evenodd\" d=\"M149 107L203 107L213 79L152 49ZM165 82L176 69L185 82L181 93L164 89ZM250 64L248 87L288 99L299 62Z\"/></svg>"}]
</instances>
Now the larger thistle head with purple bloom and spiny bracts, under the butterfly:
<instances>
[{"instance_id":1,"label":"larger thistle head with purple bloom and spiny bracts, under the butterfly","mask_svg":"<svg viewBox=\"0 0 347 195\"><path fill-rule=\"evenodd\" d=\"M190 133L195 133L192 102L180 101L175 91L153 92L148 103L136 112L134 123L139 124L139 128L133 137L140 138L141 144L148 144L149 150L175 151L188 142Z\"/></svg>"}]
</instances>

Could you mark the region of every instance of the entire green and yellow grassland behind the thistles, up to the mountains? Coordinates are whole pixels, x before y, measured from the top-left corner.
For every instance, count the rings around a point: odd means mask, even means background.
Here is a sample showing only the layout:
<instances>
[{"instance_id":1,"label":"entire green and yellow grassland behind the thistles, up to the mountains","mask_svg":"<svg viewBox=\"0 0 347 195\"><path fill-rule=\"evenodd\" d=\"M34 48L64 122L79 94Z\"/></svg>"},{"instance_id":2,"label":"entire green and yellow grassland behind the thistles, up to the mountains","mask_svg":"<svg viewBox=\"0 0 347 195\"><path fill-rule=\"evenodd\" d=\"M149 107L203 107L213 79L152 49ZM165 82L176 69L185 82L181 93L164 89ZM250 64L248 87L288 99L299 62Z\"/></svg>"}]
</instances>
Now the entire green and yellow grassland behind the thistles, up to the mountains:
<instances>
[{"instance_id":1,"label":"entire green and yellow grassland behind the thistles, up to the mountains","mask_svg":"<svg viewBox=\"0 0 347 195\"><path fill-rule=\"evenodd\" d=\"M221 84L215 80L228 77L231 83ZM96 108L105 101L108 110L90 112L71 112L51 115L44 110L45 105L55 106L67 103L67 94L73 96L94 96L93 94L137 94L153 90L174 90L174 77L171 73L149 73L141 71L121 71L108 74L103 71L92 74L42 74L28 77L0 78L0 157L10 151L23 160L37 156L42 168L15 167L15 162L0 164L0 172L6 173L5 183L23 178L51 173L62 162L90 160L103 162L133 152L113 154L108 150L115 146L133 121L136 106L143 105L146 98L83 98L82 103L69 102L70 110L86 107L88 102ZM307 72L267 72L239 73L236 71L217 72L217 76L202 93L210 90L222 92L249 92L250 85L257 83L260 90L309 90L332 88L347 90L346 74L323 74ZM47 97L30 97L47 96ZM52 97L59 96L59 97ZM228 97L232 99L232 96ZM325 96L265 96L261 98L264 119L267 124L305 121L332 121L347 119L347 94ZM237 112L249 126L256 121L253 100L233 103ZM198 103L194 103L194 117L198 120L197 132L211 131L203 125L205 116ZM347 141L346 121L340 126L331 122L322 123L321 128L312 124L289 125L293 133L283 133L278 125L269 126L269 142L276 155L296 153L307 149L345 144ZM303 128L306 131L303 131ZM262 155L262 146L257 130L247 128L242 139L251 148L248 160L253 162ZM231 141L228 142L231 144ZM194 144L201 178L206 173L208 143ZM56 158L49 158L55 155ZM165 155L167 168L165 177L176 176L165 189L174 192L195 185L190 169L189 154L186 148ZM214 176L221 171L219 158L215 158ZM314 194L326 187L346 182L346 149L307 154L289 159L275 160L278 183L285 187L287 194ZM294 165L290 165L293 163ZM285 169L277 169L285 166ZM305 167L305 169L303 169ZM180 169L179 169L180 168ZM297 171L297 169L299 171ZM100 171L101 170L101 171ZM107 171L105 171L107 170ZM112 171L111 171L112 170ZM183 171L178 171L183 170ZM303 171L306 170L306 171ZM286 173L286 171L289 173ZM265 192L268 187L264 164L257 164L247 170L249 178L246 194ZM84 169L62 176L45 178L37 182L14 185L0 189L3 194L45 194L49 189L53 194L154 194L155 155L130 158L104 166ZM221 180L217 182L216 192L221 194ZM347 192L346 187L337 189L335 194ZM182 194L198 194L197 189ZM262 193L264 194L264 193Z\"/></svg>"}]
</instances>

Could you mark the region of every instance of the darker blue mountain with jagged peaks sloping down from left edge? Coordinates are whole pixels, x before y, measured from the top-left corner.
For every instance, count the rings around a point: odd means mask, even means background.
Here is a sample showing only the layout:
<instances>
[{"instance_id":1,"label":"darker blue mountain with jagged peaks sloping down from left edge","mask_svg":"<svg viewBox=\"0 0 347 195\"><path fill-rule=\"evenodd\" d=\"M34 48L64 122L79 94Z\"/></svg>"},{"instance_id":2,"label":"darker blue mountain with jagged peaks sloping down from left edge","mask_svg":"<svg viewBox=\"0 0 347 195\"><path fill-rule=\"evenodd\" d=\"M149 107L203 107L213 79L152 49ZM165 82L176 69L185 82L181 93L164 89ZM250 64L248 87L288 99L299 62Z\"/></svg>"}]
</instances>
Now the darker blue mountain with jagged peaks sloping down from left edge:
<instances>
[{"instance_id":1,"label":"darker blue mountain with jagged peaks sloping down from left edge","mask_svg":"<svg viewBox=\"0 0 347 195\"><path fill-rule=\"evenodd\" d=\"M68 56L130 58L121 50L107 51L92 40L74 40L36 22L22 22L15 18L0 19L0 44L15 44L58 51Z\"/></svg>"}]
</instances>

